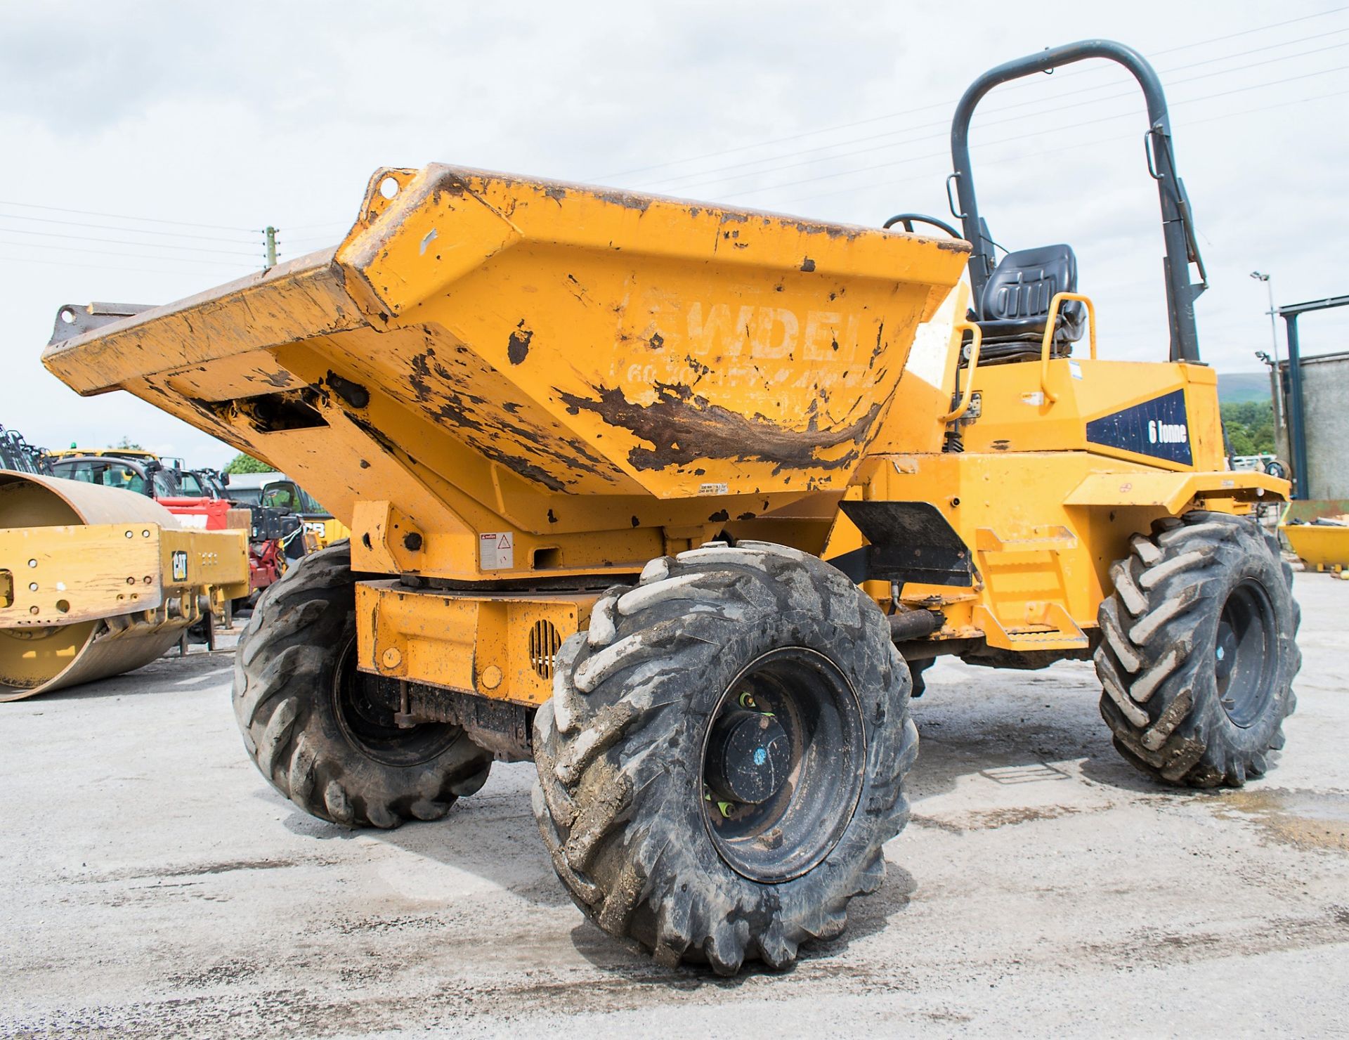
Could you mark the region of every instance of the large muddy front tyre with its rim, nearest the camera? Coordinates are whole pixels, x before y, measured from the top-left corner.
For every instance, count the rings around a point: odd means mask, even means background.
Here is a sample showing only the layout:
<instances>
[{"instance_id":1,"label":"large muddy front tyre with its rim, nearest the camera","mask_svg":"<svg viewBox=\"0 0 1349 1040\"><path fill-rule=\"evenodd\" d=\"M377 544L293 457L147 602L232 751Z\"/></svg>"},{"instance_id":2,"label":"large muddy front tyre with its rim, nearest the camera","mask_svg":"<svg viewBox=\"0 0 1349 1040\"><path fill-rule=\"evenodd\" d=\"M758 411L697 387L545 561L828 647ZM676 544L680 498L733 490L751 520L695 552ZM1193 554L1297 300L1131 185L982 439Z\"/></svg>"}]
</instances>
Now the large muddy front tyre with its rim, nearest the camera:
<instances>
[{"instance_id":1,"label":"large muddy front tyre with its rim, nearest the camera","mask_svg":"<svg viewBox=\"0 0 1349 1040\"><path fill-rule=\"evenodd\" d=\"M917 754L885 616L813 556L711 544L607 592L534 720L534 813L610 935L722 974L839 935Z\"/></svg>"}]
</instances>

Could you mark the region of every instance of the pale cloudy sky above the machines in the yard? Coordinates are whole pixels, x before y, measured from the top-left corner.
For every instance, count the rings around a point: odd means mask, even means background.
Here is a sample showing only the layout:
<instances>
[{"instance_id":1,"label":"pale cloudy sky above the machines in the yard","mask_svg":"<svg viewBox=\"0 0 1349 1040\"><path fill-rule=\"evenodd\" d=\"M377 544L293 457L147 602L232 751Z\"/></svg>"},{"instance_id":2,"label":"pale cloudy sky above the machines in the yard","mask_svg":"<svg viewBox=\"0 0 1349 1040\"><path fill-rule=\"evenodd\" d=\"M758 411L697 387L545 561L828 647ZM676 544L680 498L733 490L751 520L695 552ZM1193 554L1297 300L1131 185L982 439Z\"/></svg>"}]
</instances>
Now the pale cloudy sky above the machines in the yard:
<instances>
[{"instance_id":1,"label":"pale cloudy sky above the machines in the yard","mask_svg":"<svg viewBox=\"0 0 1349 1040\"><path fill-rule=\"evenodd\" d=\"M0 8L0 424L49 446L232 452L39 364L58 306L161 304L337 241L378 166L451 162L812 217L946 216L948 123L985 69L1106 36L1161 74L1211 289L1205 357L1256 371L1276 301L1349 291L1349 7L1309 3L55 3ZM1071 243L1102 353L1163 359L1141 96L1079 65L975 119L1010 248ZM1340 349L1349 313L1303 322Z\"/></svg>"}]
</instances>

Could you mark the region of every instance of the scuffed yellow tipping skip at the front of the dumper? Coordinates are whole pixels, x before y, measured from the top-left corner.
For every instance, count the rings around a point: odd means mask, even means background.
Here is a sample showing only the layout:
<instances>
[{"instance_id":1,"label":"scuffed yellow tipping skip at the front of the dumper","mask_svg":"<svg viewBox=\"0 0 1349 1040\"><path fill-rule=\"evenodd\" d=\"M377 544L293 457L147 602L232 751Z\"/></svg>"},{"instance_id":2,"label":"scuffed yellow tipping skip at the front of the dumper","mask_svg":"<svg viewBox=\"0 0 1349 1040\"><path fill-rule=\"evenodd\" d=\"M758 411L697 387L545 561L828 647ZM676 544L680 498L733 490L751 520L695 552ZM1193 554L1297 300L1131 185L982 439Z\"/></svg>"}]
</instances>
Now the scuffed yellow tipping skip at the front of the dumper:
<instances>
[{"instance_id":1,"label":"scuffed yellow tipping skip at the front of the dumper","mask_svg":"<svg viewBox=\"0 0 1349 1040\"><path fill-rule=\"evenodd\" d=\"M336 248L82 335L67 308L43 362L266 459L348 523L391 499L437 526L467 496L548 530L575 495L846 487L967 248L389 169Z\"/></svg>"}]
</instances>

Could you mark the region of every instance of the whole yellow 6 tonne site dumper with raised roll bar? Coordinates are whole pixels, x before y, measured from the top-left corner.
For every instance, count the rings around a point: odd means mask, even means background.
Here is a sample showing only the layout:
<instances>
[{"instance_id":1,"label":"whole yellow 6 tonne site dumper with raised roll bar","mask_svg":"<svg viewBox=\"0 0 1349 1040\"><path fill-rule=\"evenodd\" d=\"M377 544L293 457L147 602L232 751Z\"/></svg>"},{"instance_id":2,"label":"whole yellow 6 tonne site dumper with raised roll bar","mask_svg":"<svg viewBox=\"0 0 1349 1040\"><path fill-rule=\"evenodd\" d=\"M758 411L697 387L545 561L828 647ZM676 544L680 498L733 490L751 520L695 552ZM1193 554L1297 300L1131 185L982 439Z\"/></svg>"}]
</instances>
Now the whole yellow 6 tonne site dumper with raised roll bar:
<instances>
[{"instance_id":1,"label":"whole yellow 6 tonne site dumper with raised roll bar","mask_svg":"<svg viewBox=\"0 0 1349 1040\"><path fill-rule=\"evenodd\" d=\"M994 262L975 201L979 98L1085 58L1147 98L1167 363L1098 357L1072 250ZM1178 785L1263 774L1294 707L1298 608L1249 515L1288 484L1226 467L1156 74L1103 40L1002 65L952 154L963 232L383 169L337 247L58 322L45 363L351 527L240 643L235 710L282 795L394 827L533 758L600 928L781 967L881 884L935 656L1094 654L1116 746Z\"/></svg>"}]
</instances>

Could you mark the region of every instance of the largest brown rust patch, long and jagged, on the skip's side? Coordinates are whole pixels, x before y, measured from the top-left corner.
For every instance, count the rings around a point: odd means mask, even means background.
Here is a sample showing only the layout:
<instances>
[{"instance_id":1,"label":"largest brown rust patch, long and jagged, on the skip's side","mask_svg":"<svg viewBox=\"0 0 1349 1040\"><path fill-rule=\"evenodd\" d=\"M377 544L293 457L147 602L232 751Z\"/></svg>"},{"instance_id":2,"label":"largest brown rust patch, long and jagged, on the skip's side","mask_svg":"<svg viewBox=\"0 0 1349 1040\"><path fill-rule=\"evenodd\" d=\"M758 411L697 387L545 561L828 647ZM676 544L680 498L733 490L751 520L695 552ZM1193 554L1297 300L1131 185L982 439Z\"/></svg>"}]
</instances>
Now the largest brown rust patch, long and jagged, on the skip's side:
<instances>
[{"instance_id":1,"label":"largest brown rust patch, long and jagged, on the skip's side","mask_svg":"<svg viewBox=\"0 0 1349 1040\"><path fill-rule=\"evenodd\" d=\"M627 461L637 469L664 469L696 459L735 459L770 463L773 473L782 469L840 469L851 465L858 444L881 410L871 405L866 414L842 429L822 430L811 415L804 430L778 426L764 415L742 415L711 403L687 386L656 383L657 399L635 405L618 387L598 387L595 398L577 397L554 387L567 409L592 411L611 426L622 426L650 448L633 448ZM822 459L820 452L851 444L838 459Z\"/></svg>"}]
</instances>

